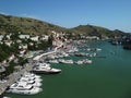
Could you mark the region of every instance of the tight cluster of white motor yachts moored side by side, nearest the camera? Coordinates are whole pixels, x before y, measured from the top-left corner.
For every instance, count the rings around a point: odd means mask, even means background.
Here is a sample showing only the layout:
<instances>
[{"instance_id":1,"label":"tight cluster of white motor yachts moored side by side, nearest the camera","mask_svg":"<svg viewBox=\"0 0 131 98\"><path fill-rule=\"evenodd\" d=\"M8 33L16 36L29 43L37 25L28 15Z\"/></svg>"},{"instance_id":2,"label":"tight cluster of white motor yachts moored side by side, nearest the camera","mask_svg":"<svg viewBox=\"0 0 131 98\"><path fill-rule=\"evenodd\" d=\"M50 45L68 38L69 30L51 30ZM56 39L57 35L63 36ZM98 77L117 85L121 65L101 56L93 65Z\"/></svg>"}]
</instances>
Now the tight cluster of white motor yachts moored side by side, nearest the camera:
<instances>
[{"instance_id":1,"label":"tight cluster of white motor yachts moored side by side, nearest the camera","mask_svg":"<svg viewBox=\"0 0 131 98\"><path fill-rule=\"evenodd\" d=\"M7 93L21 95L35 95L41 91L41 78L33 73L25 73L17 82L12 84Z\"/></svg>"}]
</instances>

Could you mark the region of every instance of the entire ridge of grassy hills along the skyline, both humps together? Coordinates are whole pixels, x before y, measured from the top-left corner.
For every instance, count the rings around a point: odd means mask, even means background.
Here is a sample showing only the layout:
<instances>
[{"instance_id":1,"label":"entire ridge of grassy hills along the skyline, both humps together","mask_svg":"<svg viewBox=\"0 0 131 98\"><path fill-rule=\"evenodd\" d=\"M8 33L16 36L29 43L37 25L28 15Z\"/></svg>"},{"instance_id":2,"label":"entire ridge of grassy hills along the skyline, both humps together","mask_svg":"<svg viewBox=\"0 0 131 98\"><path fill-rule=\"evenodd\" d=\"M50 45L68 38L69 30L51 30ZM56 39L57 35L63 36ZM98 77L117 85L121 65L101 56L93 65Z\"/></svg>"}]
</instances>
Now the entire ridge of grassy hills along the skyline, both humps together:
<instances>
[{"instance_id":1,"label":"entire ridge of grassy hills along the skyline, both humps together","mask_svg":"<svg viewBox=\"0 0 131 98\"><path fill-rule=\"evenodd\" d=\"M69 23L70 24L70 23ZM56 30L58 33L75 33L84 34L90 36L99 37L114 37L123 35L120 30L110 30L108 28L93 26L93 25L80 25L74 28L64 28L58 25L53 25L44 21L29 19L29 17L17 17L11 15L0 14L0 34L7 33L26 33L26 34L49 34L50 30Z\"/></svg>"}]
</instances>

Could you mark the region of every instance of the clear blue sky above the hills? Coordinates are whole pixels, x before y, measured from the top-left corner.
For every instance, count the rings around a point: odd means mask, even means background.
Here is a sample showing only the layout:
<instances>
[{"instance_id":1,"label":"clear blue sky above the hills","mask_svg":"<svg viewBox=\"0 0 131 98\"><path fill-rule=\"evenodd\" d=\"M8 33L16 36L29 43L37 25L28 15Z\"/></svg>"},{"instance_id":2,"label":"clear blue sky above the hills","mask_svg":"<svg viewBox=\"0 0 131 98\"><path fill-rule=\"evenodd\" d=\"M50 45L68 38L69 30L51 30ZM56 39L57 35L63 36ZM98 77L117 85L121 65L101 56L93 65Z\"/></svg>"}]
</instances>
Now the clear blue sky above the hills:
<instances>
[{"instance_id":1,"label":"clear blue sky above the hills","mask_svg":"<svg viewBox=\"0 0 131 98\"><path fill-rule=\"evenodd\" d=\"M91 24L131 33L131 0L0 0L0 13L67 28Z\"/></svg>"}]
</instances>

